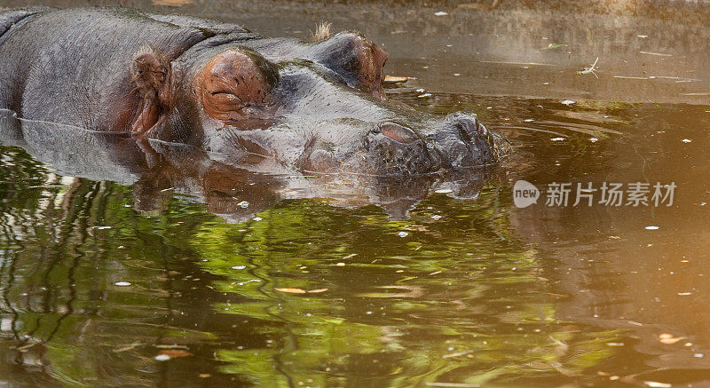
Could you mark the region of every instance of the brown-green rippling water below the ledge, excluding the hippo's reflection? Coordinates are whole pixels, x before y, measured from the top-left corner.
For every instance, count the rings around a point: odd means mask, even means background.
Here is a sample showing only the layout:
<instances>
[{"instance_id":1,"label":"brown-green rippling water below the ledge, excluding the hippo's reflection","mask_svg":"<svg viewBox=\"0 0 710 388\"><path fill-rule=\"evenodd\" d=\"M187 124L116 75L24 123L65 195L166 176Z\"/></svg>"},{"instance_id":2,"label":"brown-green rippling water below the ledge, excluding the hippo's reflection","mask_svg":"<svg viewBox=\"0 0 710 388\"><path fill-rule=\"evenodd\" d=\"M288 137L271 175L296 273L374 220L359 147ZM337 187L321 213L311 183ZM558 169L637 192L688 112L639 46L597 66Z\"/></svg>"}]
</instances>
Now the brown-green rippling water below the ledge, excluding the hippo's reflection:
<instances>
[{"instance_id":1,"label":"brown-green rippling water below the ledge, excluding the hippo's reflection","mask_svg":"<svg viewBox=\"0 0 710 388\"><path fill-rule=\"evenodd\" d=\"M0 377L708 384L710 107L418 86L388 91L431 113L475 112L516 152L477 198L432 191L407 217L276 196L234 223L170 190L146 210L134 187L0 147ZM546 206L543 194L518 209L518 179L677 188L672 206Z\"/></svg>"}]
</instances>

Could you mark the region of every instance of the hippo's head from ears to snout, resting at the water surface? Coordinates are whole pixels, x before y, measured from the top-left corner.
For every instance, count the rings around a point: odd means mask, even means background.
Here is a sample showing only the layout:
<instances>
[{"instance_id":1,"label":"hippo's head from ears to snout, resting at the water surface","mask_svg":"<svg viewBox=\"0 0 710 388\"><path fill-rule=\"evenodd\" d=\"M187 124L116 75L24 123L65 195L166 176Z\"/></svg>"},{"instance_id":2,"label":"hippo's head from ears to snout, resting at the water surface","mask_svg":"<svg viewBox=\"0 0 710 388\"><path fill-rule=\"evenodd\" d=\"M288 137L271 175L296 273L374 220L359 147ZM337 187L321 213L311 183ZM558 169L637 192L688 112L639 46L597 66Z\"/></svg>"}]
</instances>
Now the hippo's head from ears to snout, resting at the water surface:
<instances>
[{"instance_id":1,"label":"hippo's head from ears to snout, resting at the water surface","mask_svg":"<svg viewBox=\"0 0 710 388\"><path fill-rule=\"evenodd\" d=\"M172 61L142 51L133 78L146 97L133 129L235 164L269 159L305 171L419 175L500 160L506 141L476 115L387 101L387 56L352 32L309 44L223 39Z\"/></svg>"}]
</instances>

